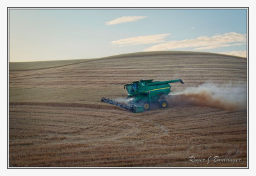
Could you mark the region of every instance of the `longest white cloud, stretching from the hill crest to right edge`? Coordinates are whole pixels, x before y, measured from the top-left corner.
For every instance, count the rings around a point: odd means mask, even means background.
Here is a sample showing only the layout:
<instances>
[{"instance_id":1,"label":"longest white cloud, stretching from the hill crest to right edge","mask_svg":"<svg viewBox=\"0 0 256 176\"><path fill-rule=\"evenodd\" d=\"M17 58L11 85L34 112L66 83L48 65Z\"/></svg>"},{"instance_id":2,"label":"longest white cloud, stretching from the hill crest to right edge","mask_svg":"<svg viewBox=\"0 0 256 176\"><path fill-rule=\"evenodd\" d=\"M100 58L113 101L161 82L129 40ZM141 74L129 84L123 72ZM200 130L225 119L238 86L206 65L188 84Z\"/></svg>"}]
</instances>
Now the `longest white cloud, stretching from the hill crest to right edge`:
<instances>
[{"instance_id":1,"label":"longest white cloud, stretching from the hill crest to right edge","mask_svg":"<svg viewBox=\"0 0 256 176\"><path fill-rule=\"evenodd\" d=\"M228 47L246 44L246 34L225 33L216 36L200 36L195 39L167 41L159 45L154 45L144 51L173 50L178 48L194 48L195 50L205 50L209 48Z\"/></svg>"}]
</instances>

